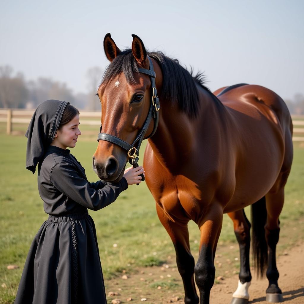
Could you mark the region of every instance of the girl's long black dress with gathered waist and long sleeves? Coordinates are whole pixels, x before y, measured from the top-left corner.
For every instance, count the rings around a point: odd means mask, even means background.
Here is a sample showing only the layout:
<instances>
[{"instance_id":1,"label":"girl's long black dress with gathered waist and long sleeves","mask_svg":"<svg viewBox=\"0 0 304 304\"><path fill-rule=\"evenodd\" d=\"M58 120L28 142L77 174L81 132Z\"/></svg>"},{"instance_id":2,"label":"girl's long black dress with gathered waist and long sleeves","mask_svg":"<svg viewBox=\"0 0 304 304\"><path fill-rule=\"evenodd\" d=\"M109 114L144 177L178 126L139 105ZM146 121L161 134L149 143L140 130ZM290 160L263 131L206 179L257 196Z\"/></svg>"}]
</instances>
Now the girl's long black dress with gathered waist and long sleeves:
<instances>
[{"instance_id":1,"label":"girl's long black dress with gathered waist and long sleeves","mask_svg":"<svg viewBox=\"0 0 304 304\"><path fill-rule=\"evenodd\" d=\"M70 154L49 146L39 162L38 189L49 214L36 234L15 304L105 304L105 287L96 230L87 209L99 210L126 190L117 184L88 182Z\"/></svg>"}]
</instances>

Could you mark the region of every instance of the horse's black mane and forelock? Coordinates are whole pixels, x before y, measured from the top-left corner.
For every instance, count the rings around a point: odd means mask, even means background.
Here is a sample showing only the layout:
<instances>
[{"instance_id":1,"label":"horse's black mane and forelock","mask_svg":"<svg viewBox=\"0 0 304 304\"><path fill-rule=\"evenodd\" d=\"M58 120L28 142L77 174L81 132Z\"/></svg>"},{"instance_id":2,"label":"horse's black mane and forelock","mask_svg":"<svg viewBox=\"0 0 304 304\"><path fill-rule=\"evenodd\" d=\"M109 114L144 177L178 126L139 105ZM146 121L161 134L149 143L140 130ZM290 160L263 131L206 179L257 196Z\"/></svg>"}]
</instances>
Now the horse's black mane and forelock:
<instances>
[{"instance_id":1,"label":"horse's black mane and forelock","mask_svg":"<svg viewBox=\"0 0 304 304\"><path fill-rule=\"evenodd\" d=\"M193 76L193 69L189 72L182 67L177 59L171 59L162 52L148 52L148 56L155 59L163 73L162 97L172 103L178 102L182 111L189 116L196 116L199 109L199 96L196 84L214 96L205 84L203 73ZM108 83L121 72L130 84L135 84L134 74L138 74L136 60L131 49L123 50L107 67L102 82ZM215 98L219 102L217 98Z\"/></svg>"}]
</instances>

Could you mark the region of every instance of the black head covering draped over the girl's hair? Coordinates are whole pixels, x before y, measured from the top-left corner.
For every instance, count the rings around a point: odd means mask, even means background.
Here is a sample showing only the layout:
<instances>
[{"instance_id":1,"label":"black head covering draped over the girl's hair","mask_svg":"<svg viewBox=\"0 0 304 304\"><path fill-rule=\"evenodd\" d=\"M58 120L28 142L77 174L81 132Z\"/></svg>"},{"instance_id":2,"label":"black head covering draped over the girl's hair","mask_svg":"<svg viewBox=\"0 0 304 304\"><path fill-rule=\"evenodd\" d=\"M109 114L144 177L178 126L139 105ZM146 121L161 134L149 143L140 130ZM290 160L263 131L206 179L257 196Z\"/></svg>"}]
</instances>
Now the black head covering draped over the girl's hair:
<instances>
[{"instance_id":1,"label":"black head covering draped over the girl's hair","mask_svg":"<svg viewBox=\"0 0 304 304\"><path fill-rule=\"evenodd\" d=\"M47 100L41 103L34 112L25 134L27 137L26 169L33 173L46 148L55 138L62 114L68 103Z\"/></svg>"}]
</instances>

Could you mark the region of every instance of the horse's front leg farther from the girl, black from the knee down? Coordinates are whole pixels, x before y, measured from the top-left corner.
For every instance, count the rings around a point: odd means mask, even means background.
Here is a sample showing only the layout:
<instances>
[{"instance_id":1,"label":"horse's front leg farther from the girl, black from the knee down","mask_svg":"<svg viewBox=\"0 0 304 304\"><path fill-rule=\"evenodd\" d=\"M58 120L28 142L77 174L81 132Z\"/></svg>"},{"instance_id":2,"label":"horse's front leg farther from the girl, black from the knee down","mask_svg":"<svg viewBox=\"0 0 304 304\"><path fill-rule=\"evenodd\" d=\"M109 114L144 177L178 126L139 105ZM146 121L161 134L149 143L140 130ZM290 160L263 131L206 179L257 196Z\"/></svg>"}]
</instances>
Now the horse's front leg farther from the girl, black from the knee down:
<instances>
[{"instance_id":1,"label":"horse's front leg farther from the girl, black from the knee down","mask_svg":"<svg viewBox=\"0 0 304 304\"><path fill-rule=\"evenodd\" d=\"M194 268L195 282L199 288L200 304L209 304L210 290L214 284L214 257L223 223L223 207L214 202L208 207L199 229L201 231L199 258Z\"/></svg>"}]
</instances>

